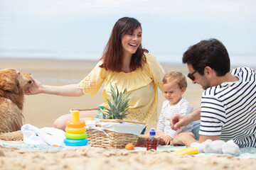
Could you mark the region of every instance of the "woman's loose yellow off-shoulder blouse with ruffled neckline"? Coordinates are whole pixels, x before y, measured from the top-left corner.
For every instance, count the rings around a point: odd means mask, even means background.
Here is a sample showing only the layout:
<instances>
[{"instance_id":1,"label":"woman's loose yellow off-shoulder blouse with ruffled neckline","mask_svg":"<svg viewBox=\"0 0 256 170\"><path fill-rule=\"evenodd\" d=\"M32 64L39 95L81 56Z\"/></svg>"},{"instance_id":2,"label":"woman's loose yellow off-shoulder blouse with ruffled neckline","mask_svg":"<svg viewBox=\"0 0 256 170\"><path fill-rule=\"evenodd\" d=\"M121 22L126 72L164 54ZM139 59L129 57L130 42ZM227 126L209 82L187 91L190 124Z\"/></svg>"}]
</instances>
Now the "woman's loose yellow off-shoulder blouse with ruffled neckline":
<instances>
[{"instance_id":1,"label":"woman's loose yellow off-shoulder blouse with ruffled neckline","mask_svg":"<svg viewBox=\"0 0 256 170\"><path fill-rule=\"evenodd\" d=\"M158 88L162 89L162 79L164 77L164 69L161 67L156 57L144 53L146 56L146 64L141 69L136 69L133 72L112 72L99 66L102 61L98 62L96 67L92 69L90 74L82 79L79 88L85 94L95 96L97 91L104 84L102 91L103 104L107 106L106 98L110 98L110 83L112 86L117 84L119 91L127 89L129 95L129 111L127 120L137 120L145 123L146 125L156 123L157 120L157 101L158 101Z\"/></svg>"}]
</instances>

